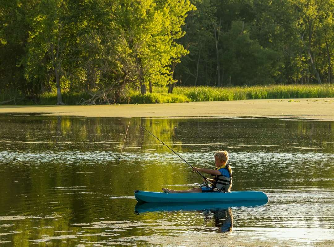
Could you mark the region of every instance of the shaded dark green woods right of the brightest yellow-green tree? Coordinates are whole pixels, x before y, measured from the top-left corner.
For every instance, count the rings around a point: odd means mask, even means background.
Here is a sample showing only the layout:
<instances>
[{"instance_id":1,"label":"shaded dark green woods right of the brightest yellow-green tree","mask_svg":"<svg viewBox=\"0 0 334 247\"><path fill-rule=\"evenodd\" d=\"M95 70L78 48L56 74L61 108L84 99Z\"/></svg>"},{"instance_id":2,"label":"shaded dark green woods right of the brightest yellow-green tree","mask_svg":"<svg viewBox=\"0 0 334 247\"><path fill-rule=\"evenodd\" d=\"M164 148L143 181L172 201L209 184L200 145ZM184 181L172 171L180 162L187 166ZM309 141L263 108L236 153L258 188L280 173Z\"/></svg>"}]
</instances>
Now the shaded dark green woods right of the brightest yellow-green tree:
<instances>
[{"instance_id":1,"label":"shaded dark green woods right of the brightest yellow-green tree","mask_svg":"<svg viewBox=\"0 0 334 247\"><path fill-rule=\"evenodd\" d=\"M180 85L334 82L333 0L192 2L197 11L186 20L181 39L189 44L189 56L177 68Z\"/></svg>"}]
</instances>

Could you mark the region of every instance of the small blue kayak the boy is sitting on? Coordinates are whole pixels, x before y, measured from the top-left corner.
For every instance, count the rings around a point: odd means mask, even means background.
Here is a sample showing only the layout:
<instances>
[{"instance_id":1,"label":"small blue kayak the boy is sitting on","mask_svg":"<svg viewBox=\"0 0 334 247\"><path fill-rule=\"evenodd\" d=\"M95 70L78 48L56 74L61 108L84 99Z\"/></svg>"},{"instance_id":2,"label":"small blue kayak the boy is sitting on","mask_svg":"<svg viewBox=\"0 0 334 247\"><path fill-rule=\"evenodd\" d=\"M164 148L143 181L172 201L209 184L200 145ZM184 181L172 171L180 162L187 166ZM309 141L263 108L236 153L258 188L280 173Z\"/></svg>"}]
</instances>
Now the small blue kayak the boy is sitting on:
<instances>
[{"instance_id":1,"label":"small blue kayak the boy is sitting on","mask_svg":"<svg viewBox=\"0 0 334 247\"><path fill-rule=\"evenodd\" d=\"M232 191L230 193L165 193L135 190L138 202L230 202L268 200L261 191Z\"/></svg>"}]
</instances>

